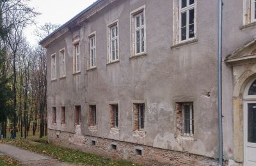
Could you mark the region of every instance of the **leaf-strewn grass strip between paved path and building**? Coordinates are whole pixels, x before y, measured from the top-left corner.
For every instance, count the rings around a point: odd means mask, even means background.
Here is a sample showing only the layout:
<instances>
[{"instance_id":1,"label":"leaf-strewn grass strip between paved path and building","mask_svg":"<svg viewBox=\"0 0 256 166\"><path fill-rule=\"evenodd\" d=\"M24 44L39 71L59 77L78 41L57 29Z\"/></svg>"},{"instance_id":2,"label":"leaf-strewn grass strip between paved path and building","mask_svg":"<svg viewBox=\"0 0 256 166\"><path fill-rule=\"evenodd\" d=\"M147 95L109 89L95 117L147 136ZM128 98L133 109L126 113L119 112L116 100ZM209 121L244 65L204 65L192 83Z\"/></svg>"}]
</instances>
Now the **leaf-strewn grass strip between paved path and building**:
<instances>
[{"instance_id":1,"label":"leaf-strewn grass strip between paved path and building","mask_svg":"<svg viewBox=\"0 0 256 166\"><path fill-rule=\"evenodd\" d=\"M15 140L3 139L0 140L0 143L1 142L21 147L23 149L28 149L29 151L33 151L36 153L41 153L43 155L51 156L52 158L57 158L61 162L80 163L83 165L138 165L128 162L126 160L111 160L102 156L83 153L82 151L54 146L47 143L47 137L44 137L43 139L38 139L38 135L29 135L27 139L20 139L19 137L17 137L17 139ZM1 164L2 163L0 162L0 166Z\"/></svg>"}]
</instances>

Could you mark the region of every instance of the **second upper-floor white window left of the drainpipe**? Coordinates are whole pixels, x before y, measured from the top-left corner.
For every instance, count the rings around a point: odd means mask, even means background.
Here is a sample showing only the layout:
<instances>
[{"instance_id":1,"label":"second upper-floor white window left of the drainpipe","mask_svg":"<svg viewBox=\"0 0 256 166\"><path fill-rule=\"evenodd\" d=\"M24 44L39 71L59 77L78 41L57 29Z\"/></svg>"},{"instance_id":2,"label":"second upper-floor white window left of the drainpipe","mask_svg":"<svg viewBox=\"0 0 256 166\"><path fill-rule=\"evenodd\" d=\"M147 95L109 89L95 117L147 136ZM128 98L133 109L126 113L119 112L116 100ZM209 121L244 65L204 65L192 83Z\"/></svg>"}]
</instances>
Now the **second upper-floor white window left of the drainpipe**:
<instances>
[{"instance_id":1,"label":"second upper-floor white window left of the drainpipe","mask_svg":"<svg viewBox=\"0 0 256 166\"><path fill-rule=\"evenodd\" d=\"M146 53L145 6L131 12L132 56Z\"/></svg>"}]
</instances>

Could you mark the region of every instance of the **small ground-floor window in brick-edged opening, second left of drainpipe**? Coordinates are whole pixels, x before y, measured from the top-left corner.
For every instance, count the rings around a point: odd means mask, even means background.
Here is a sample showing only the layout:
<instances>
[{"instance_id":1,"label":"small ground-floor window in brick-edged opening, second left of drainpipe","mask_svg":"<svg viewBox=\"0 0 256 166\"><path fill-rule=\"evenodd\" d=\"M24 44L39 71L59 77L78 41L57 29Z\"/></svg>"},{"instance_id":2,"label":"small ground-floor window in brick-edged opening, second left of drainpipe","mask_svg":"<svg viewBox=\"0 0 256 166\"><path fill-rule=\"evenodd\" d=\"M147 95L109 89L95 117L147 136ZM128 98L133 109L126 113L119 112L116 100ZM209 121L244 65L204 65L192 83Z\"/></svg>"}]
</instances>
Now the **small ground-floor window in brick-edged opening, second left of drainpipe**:
<instances>
[{"instance_id":1,"label":"small ground-floor window in brick-edged opening, second left of drainpipe","mask_svg":"<svg viewBox=\"0 0 256 166\"><path fill-rule=\"evenodd\" d=\"M145 130L145 104L134 104L134 130Z\"/></svg>"}]
</instances>

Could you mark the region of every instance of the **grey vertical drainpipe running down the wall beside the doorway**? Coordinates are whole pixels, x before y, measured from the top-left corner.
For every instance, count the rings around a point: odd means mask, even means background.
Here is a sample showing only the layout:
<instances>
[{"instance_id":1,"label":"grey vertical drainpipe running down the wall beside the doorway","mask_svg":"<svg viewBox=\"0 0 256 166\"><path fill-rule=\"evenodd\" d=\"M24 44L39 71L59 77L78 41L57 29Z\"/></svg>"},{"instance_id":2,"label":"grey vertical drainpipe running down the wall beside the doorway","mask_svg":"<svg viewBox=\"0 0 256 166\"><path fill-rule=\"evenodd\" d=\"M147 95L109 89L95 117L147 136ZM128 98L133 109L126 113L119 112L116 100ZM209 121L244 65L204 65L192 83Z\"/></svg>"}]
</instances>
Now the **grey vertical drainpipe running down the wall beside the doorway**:
<instances>
[{"instance_id":1,"label":"grey vertical drainpipe running down the wall beside the doorway","mask_svg":"<svg viewBox=\"0 0 256 166\"><path fill-rule=\"evenodd\" d=\"M219 165L223 160L223 133L222 133L222 0L218 4L218 142L219 142Z\"/></svg>"}]
</instances>

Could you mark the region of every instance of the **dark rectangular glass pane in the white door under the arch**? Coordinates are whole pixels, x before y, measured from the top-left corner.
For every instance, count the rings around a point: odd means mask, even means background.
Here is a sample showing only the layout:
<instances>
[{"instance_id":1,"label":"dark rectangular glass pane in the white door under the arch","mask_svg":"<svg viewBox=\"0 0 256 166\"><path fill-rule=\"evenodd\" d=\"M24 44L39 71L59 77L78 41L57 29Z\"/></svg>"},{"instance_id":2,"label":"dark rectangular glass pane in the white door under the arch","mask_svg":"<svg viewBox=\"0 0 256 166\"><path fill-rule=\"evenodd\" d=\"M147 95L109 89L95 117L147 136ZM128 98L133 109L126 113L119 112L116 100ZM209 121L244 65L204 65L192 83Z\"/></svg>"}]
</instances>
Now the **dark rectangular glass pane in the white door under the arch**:
<instances>
[{"instance_id":1,"label":"dark rectangular glass pane in the white door under the arch","mask_svg":"<svg viewBox=\"0 0 256 166\"><path fill-rule=\"evenodd\" d=\"M256 143L256 103L248 103L248 142Z\"/></svg>"}]
</instances>

